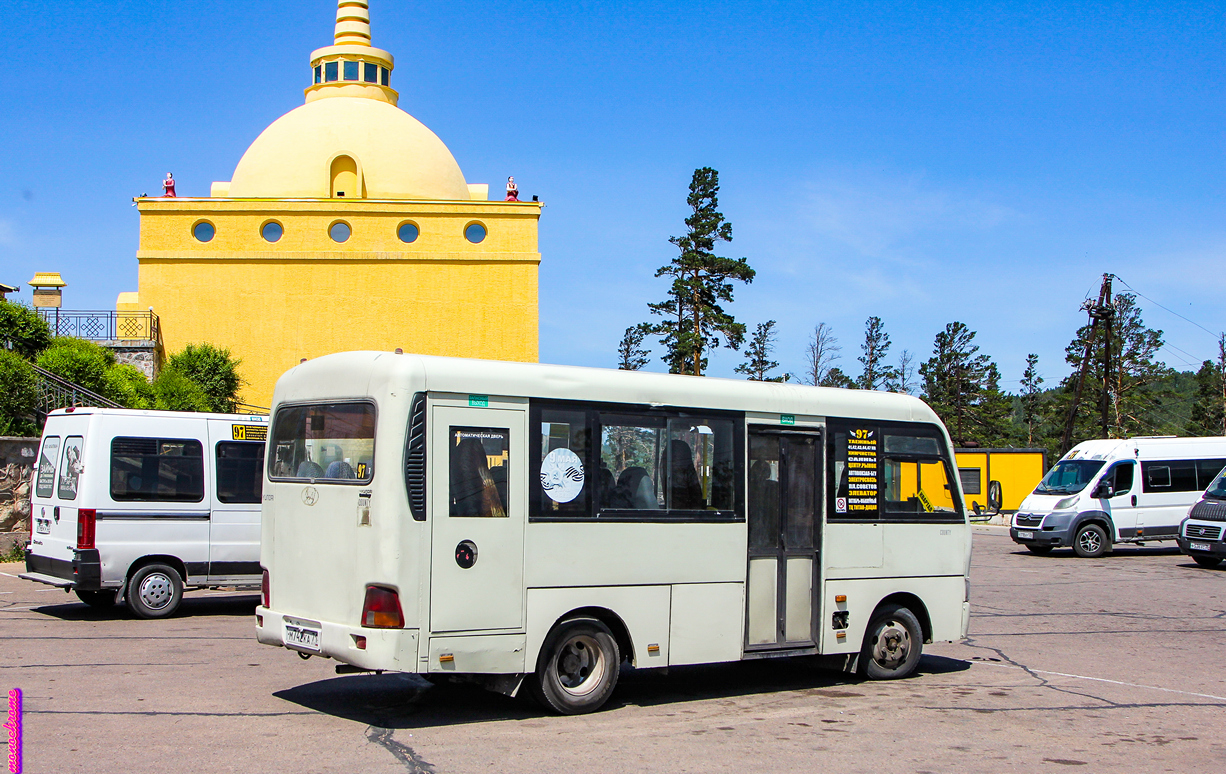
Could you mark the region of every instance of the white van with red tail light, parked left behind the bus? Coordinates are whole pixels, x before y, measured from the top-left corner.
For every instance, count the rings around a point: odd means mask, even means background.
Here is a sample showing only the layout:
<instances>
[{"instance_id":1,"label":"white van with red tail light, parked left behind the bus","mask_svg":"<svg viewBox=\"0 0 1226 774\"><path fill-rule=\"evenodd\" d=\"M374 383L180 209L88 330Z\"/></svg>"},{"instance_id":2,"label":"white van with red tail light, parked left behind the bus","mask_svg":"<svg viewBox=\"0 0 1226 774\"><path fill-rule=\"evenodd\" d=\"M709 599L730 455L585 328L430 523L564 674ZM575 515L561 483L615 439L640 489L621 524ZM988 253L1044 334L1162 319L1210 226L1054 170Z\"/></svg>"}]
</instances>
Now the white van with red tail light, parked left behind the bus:
<instances>
[{"instance_id":1,"label":"white van with red tail light, parked left behind the bus","mask_svg":"<svg viewBox=\"0 0 1226 774\"><path fill-rule=\"evenodd\" d=\"M265 416L61 408L47 417L21 577L142 618L184 588L260 584Z\"/></svg>"}]
</instances>

